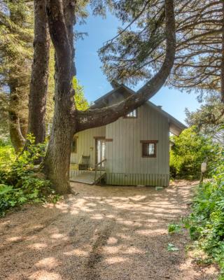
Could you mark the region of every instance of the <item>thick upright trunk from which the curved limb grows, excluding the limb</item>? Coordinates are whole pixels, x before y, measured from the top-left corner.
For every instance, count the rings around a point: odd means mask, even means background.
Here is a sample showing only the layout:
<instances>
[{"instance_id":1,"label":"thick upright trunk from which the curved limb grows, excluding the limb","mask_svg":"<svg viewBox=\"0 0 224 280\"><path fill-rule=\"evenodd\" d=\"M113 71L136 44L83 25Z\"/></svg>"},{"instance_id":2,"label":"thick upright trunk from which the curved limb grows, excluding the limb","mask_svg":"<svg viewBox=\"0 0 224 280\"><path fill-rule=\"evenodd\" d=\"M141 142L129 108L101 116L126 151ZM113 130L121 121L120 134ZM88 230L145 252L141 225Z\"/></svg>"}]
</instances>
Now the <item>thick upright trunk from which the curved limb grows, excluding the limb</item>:
<instances>
[{"instance_id":1,"label":"thick upright trunk from which the curved limb grows, excluding the limb","mask_svg":"<svg viewBox=\"0 0 224 280\"><path fill-rule=\"evenodd\" d=\"M69 165L75 132L73 66L74 1L48 1L48 23L55 47L55 112L44 167L57 193L70 193Z\"/></svg>"}]
</instances>

